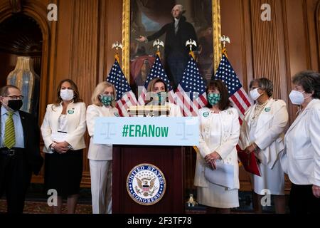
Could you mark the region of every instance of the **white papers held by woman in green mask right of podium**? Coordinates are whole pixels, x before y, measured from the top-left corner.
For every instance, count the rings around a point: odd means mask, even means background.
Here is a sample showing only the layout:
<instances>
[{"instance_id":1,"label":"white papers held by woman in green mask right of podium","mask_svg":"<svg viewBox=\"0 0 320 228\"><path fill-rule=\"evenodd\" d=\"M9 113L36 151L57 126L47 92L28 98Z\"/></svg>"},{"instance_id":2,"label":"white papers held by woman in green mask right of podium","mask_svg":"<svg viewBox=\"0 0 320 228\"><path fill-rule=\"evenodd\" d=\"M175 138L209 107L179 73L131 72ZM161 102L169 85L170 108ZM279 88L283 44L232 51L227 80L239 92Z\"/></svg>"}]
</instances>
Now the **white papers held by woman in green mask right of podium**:
<instances>
[{"instance_id":1,"label":"white papers held by woman in green mask right of podium","mask_svg":"<svg viewBox=\"0 0 320 228\"><path fill-rule=\"evenodd\" d=\"M228 165L220 160L215 161L216 169L213 170L210 167L205 168L205 177L208 182L215 185L220 185L223 187L228 187L229 189L235 188L235 176L233 165Z\"/></svg>"}]
</instances>

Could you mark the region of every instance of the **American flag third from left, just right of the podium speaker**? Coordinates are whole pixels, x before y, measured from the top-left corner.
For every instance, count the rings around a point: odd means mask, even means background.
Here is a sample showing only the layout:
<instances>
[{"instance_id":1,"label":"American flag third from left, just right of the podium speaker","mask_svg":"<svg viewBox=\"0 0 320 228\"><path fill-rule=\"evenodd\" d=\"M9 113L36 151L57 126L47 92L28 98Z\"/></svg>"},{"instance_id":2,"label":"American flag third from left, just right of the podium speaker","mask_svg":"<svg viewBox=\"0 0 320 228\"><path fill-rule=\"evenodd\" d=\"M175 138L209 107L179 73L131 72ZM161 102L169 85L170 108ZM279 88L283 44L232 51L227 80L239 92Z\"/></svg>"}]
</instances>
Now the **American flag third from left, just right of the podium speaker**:
<instances>
[{"instance_id":1,"label":"American flag third from left, just right of the podium speaker","mask_svg":"<svg viewBox=\"0 0 320 228\"><path fill-rule=\"evenodd\" d=\"M192 57L176 90L176 104L184 116L197 116L198 110L207 104L206 81L203 80L196 61Z\"/></svg>"}]
</instances>

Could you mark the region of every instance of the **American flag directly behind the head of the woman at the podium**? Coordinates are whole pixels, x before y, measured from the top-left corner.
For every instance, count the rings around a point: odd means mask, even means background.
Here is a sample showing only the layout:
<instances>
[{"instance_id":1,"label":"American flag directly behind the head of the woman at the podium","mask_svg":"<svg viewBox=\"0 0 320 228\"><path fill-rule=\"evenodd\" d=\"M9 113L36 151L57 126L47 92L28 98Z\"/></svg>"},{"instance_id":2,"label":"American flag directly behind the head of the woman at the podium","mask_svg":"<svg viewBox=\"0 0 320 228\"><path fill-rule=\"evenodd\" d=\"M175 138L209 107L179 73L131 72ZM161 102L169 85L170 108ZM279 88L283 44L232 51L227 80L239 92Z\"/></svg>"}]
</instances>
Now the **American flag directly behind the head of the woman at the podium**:
<instances>
[{"instance_id":1,"label":"American flag directly behind the head of the woman at the podium","mask_svg":"<svg viewBox=\"0 0 320 228\"><path fill-rule=\"evenodd\" d=\"M164 81L164 83L166 83L166 88L168 88L169 101L171 103L174 103L174 90L172 90L169 78L168 76L166 76L166 72L164 72L164 67L162 66L159 56L156 55L156 61L154 61L154 65L152 65L151 71L148 77L146 77L146 81L144 82L144 88L142 88L142 91L140 92L138 98L139 105L145 104L146 89L148 88L150 81L152 81L154 78L161 78L161 80Z\"/></svg>"}]
</instances>

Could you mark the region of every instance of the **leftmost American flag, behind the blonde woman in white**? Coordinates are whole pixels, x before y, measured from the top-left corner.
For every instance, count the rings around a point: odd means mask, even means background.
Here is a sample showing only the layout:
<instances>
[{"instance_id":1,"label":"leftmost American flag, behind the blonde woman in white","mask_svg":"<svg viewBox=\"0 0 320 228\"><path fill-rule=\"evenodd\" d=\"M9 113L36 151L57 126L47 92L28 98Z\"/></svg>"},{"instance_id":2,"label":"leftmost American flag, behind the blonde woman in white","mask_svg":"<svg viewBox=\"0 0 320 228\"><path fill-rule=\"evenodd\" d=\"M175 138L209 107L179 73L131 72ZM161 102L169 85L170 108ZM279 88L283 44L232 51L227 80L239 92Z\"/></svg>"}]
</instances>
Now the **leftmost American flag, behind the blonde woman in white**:
<instances>
[{"instance_id":1,"label":"leftmost American flag, behind the blonde woman in white","mask_svg":"<svg viewBox=\"0 0 320 228\"><path fill-rule=\"evenodd\" d=\"M137 105L137 98L132 92L127 78L124 77L121 67L117 60L111 68L109 75L107 76L107 82L114 85L117 93L117 109L119 110L119 115L129 116L127 108L132 105Z\"/></svg>"}]
</instances>

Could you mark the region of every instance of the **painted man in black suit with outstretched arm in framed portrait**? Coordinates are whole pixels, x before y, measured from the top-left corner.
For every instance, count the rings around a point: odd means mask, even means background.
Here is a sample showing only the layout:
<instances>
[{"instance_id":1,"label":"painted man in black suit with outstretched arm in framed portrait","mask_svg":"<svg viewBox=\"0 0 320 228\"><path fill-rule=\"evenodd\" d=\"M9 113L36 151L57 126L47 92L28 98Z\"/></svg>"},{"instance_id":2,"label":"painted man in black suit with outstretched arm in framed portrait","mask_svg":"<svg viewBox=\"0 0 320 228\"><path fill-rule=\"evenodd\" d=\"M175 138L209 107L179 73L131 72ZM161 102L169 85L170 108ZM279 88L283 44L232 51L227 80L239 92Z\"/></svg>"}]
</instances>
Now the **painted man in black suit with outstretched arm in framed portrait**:
<instances>
[{"instance_id":1,"label":"painted man in black suit with outstretched arm in framed portrait","mask_svg":"<svg viewBox=\"0 0 320 228\"><path fill-rule=\"evenodd\" d=\"M153 41L166 33L166 39L164 43L164 58L166 61L166 68L169 71L169 79L174 83L174 88L178 86L183 76L183 70L188 63L188 53L190 49L186 47L186 41L192 39L197 42L196 31L193 25L186 21L186 18L182 16L185 12L182 5L176 5L172 9L172 16L174 21L164 25L159 31L151 36L140 36L137 41L146 42Z\"/></svg>"}]
</instances>

